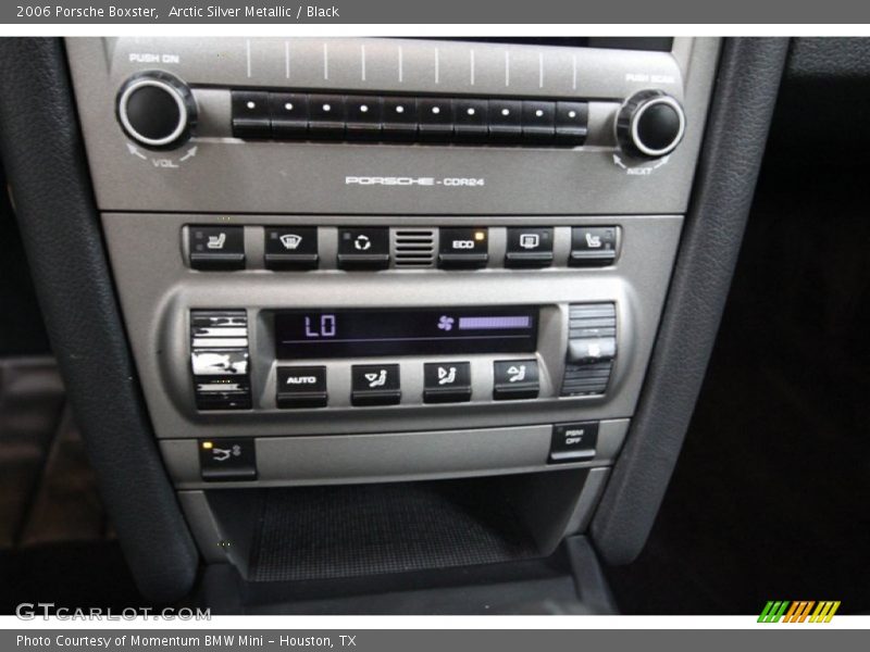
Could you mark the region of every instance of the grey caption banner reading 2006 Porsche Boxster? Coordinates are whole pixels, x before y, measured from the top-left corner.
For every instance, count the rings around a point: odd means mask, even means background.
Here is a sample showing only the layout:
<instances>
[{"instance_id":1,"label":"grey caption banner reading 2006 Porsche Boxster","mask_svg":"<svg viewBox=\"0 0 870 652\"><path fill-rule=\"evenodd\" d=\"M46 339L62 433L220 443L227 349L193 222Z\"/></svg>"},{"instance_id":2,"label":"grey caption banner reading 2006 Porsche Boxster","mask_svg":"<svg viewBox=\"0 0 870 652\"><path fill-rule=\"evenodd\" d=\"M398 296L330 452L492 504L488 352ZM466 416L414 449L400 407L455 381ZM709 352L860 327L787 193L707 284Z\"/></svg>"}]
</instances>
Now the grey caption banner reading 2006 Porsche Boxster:
<instances>
[{"instance_id":1,"label":"grey caption banner reading 2006 Porsche Boxster","mask_svg":"<svg viewBox=\"0 0 870 652\"><path fill-rule=\"evenodd\" d=\"M0 24L866 24L855 0L20 0L0 4Z\"/></svg>"}]
</instances>

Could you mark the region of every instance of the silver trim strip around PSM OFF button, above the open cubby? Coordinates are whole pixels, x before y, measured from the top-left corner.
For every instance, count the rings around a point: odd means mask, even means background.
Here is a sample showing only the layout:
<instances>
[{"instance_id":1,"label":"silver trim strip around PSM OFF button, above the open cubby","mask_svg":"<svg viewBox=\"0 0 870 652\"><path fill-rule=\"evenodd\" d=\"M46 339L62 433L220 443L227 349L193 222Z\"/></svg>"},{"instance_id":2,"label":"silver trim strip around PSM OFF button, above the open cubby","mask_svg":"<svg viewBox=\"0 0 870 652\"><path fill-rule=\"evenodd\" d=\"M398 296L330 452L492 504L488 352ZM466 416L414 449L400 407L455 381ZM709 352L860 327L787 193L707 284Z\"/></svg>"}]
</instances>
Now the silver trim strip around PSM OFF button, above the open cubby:
<instances>
[{"instance_id":1,"label":"silver trim strip around PSM OFF button, above the open cubby","mask_svg":"<svg viewBox=\"0 0 870 652\"><path fill-rule=\"evenodd\" d=\"M601 422L594 459L547 464L551 425L319 437L258 437L258 480L203 482L198 442L165 439L160 450L178 489L344 485L589 468L613 463L629 419Z\"/></svg>"}]
</instances>

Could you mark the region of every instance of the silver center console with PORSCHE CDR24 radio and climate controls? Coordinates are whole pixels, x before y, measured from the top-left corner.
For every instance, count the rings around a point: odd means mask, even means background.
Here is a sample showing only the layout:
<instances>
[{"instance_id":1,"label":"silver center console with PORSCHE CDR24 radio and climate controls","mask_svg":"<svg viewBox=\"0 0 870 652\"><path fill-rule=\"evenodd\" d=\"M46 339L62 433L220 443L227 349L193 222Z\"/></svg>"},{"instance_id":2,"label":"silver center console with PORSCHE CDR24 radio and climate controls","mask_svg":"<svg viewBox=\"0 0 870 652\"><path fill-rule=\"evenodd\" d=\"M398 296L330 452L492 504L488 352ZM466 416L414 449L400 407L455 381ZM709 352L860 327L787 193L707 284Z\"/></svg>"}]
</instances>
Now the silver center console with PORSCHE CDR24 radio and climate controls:
<instances>
[{"instance_id":1,"label":"silver center console with PORSCHE CDR24 radio and climate controls","mask_svg":"<svg viewBox=\"0 0 870 652\"><path fill-rule=\"evenodd\" d=\"M309 577L262 552L303 486L501 477L537 501L538 553L585 530L644 386L718 39L66 50L145 401L208 561Z\"/></svg>"}]
</instances>

